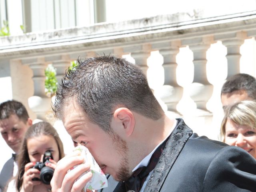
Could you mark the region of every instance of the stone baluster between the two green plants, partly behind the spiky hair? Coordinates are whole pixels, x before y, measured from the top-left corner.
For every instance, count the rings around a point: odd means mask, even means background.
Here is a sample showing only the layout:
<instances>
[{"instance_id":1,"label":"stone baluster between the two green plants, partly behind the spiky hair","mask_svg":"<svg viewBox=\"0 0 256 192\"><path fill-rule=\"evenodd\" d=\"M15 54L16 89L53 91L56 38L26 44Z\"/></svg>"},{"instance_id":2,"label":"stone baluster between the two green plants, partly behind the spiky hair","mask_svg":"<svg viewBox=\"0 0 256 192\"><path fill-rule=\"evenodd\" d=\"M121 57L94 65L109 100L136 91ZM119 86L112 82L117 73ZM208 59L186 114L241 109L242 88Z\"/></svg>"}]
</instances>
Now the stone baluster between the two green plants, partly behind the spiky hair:
<instances>
[{"instance_id":1,"label":"stone baluster between the two green plants, partly behind the spiky hair","mask_svg":"<svg viewBox=\"0 0 256 192\"><path fill-rule=\"evenodd\" d=\"M61 84L61 80L70 66L70 56L58 55L49 56L45 58L46 62L52 62L52 65L56 68L56 79L58 84Z\"/></svg>"}]
</instances>

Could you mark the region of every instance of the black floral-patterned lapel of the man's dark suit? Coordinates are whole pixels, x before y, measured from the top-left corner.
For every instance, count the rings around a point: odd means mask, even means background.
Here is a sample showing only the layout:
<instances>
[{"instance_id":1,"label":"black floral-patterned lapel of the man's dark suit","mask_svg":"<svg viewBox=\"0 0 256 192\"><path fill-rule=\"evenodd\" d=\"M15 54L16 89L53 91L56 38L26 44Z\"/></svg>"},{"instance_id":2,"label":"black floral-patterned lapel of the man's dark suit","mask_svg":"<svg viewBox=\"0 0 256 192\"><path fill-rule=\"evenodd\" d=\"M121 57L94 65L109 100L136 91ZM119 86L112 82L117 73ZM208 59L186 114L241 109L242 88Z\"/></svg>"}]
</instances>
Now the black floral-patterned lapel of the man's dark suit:
<instances>
[{"instance_id":1,"label":"black floral-patterned lapel of the man's dark suit","mask_svg":"<svg viewBox=\"0 0 256 192\"><path fill-rule=\"evenodd\" d=\"M174 162L178 158L182 148L193 131L184 123L182 119L177 119L176 128L172 131L169 140L166 143L156 167L154 168L150 179L148 180L144 192L159 192L168 176Z\"/></svg>"}]
</instances>

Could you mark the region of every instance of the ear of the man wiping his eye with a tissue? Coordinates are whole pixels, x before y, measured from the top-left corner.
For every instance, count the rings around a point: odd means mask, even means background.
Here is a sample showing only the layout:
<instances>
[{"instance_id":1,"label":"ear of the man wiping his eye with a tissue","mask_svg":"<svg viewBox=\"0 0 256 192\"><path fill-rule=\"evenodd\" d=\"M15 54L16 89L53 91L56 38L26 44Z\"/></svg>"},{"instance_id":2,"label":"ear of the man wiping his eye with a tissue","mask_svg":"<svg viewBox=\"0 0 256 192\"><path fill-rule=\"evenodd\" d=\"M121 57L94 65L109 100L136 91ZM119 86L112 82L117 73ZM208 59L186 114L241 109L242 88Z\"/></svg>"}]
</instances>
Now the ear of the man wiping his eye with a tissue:
<instances>
[{"instance_id":1,"label":"ear of the man wiping his eye with a tissue","mask_svg":"<svg viewBox=\"0 0 256 192\"><path fill-rule=\"evenodd\" d=\"M135 119L133 113L128 108L118 108L114 112L114 120L121 124L126 136L130 136L134 131Z\"/></svg>"}]
</instances>

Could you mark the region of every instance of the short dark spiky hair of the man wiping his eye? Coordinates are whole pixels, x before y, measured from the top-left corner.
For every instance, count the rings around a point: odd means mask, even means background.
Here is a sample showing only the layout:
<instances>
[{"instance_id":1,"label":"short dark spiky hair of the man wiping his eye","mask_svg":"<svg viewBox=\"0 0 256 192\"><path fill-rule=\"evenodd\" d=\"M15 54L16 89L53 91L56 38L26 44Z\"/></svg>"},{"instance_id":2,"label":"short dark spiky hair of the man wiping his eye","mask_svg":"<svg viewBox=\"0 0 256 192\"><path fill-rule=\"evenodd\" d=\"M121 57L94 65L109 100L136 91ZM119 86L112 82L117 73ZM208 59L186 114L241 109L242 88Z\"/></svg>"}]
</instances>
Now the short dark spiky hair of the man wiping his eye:
<instances>
[{"instance_id":1,"label":"short dark spiky hair of the man wiping his eye","mask_svg":"<svg viewBox=\"0 0 256 192\"><path fill-rule=\"evenodd\" d=\"M71 97L90 121L106 132L111 132L110 121L117 107L126 107L154 120L164 114L142 70L114 56L78 60L74 70L66 71L53 108L58 118Z\"/></svg>"}]
</instances>

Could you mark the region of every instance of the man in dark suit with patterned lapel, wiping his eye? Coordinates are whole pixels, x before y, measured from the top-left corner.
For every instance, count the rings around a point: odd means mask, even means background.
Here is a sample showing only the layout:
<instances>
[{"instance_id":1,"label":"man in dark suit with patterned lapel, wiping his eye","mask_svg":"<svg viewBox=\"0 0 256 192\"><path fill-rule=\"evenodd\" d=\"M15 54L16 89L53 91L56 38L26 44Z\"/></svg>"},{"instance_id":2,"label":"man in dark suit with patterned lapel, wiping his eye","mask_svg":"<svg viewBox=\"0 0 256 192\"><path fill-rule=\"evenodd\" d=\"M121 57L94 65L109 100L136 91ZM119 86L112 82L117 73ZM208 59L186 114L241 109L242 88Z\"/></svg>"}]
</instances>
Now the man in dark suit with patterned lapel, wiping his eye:
<instances>
[{"instance_id":1,"label":"man in dark suit with patterned lapel, wiping his eye","mask_svg":"<svg viewBox=\"0 0 256 192\"><path fill-rule=\"evenodd\" d=\"M256 160L168 118L142 70L125 59L79 61L66 72L53 110L109 174L102 192L256 191ZM92 178L89 171L78 179L90 168L83 161L75 152L62 158L52 192L81 191Z\"/></svg>"}]
</instances>

